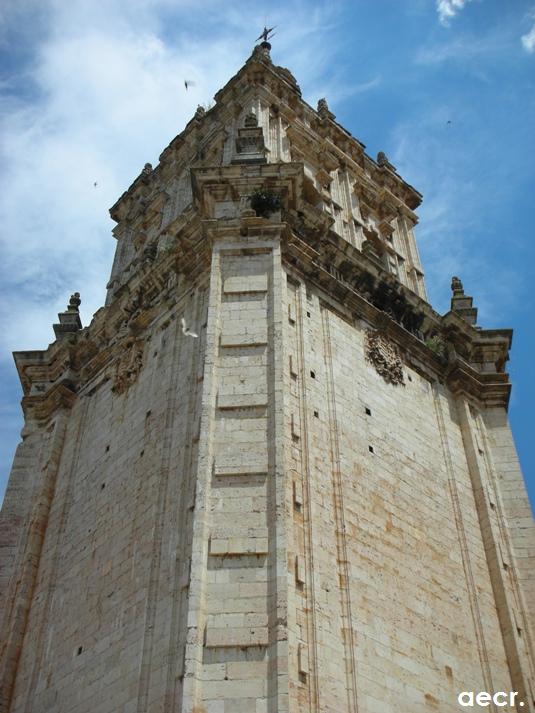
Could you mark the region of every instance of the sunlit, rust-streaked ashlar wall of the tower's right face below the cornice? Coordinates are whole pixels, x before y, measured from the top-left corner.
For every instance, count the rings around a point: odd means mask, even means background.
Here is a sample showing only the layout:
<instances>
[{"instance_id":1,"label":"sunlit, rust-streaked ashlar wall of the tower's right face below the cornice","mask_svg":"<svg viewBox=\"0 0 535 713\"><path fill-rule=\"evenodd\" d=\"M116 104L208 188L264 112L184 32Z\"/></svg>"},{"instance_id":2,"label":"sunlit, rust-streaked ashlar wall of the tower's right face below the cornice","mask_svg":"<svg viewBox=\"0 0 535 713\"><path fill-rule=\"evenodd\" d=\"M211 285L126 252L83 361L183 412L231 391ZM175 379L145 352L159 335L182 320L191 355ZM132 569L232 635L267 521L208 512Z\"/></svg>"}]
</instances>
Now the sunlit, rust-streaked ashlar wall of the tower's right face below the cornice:
<instances>
[{"instance_id":1,"label":"sunlit, rust-streaked ashlar wall of the tower's right face below the cornice","mask_svg":"<svg viewBox=\"0 0 535 713\"><path fill-rule=\"evenodd\" d=\"M460 691L518 690L513 649L528 681L529 649L496 584L514 609L516 567L496 573L487 551L469 407L406 365L387 383L365 359L370 325L291 277L286 307L292 704L449 712Z\"/></svg>"}]
</instances>

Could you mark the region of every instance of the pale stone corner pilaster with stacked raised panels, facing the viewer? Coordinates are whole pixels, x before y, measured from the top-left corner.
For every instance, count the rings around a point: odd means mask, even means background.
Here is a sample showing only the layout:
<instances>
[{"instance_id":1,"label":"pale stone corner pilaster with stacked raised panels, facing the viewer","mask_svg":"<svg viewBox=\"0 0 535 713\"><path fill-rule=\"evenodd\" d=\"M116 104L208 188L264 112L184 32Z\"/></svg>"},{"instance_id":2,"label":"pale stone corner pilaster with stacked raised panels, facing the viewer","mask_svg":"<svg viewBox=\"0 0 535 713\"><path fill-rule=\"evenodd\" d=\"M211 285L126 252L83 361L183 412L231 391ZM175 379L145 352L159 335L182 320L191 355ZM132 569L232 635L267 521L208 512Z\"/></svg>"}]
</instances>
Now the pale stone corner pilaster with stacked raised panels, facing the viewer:
<instances>
[{"instance_id":1,"label":"pale stone corner pilaster with stacked raised panels, facing the viewer","mask_svg":"<svg viewBox=\"0 0 535 713\"><path fill-rule=\"evenodd\" d=\"M233 221L234 222L234 221ZM280 228L212 242L182 710L288 710Z\"/></svg>"}]
</instances>

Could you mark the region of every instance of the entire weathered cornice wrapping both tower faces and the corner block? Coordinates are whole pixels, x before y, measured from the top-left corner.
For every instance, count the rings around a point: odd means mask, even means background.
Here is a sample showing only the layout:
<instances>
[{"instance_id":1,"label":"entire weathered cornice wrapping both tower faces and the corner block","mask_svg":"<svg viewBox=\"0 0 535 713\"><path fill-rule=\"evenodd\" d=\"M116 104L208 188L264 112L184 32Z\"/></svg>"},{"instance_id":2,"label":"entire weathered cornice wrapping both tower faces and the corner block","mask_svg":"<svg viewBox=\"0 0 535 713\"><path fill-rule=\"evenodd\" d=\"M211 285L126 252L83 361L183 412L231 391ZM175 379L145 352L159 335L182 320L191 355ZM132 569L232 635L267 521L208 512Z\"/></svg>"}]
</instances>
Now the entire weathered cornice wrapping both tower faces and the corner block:
<instances>
[{"instance_id":1,"label":"entire weathered cornice wrapping both tower faces and the corner block","mask_svg":"<svg viewBox=\"0 0 535 713\"><path fill-rule=\"evenodd\" d=\"M97 376L119 369L125 345L137 368L151 325L176 302L177 290L184 289L183 282L177 287L179 280L192 285L207 276L214 240L235 238L237 231L252 244L280 236L283 261L290 272L316 285L323 298L341 311L349 310L353 318L381 330L406 362L427 378L440 379L478 403L507 406L510 384L504 366L511 330L478 329L455 311L440 316L335 233L332 218L307 200L302 163L196 166L191 174L193 205L166 226L166 249L139 255L128 280L114 293L111 304L95 314L89 327L62 336L44 351L15 353L25 412L42 420L54 408L72 404L76 394ZM142 181L142 189L145 185ZM247 197L255 187L267 187L280 195L280 215L270 220L254 215ZM387 188L379 196L395 204ZM145 204L152 220L159 211L158 200L153 196ZM216 219L215 206L221 200L235 204L233 219ZM146 213L144 219L149 220ZM132 372L130 362L125 370ZM128 386L124 373L120 383Z\"/></svg>"}]
</instances>

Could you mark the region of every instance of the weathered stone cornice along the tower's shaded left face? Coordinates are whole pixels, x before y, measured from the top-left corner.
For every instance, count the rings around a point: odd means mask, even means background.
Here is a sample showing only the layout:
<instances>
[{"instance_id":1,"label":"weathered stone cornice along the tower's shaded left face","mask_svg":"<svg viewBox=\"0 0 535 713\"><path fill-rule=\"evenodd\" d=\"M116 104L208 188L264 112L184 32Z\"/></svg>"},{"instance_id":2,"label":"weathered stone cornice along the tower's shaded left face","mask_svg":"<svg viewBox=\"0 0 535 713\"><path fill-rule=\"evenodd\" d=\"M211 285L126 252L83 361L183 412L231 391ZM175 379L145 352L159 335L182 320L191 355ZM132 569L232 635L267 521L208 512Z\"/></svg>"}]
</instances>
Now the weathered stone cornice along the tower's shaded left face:
<instances>
[{"instance_id":1,"label":"weathered stone cornice along the tower's shaded left face","mask_svg":"<svg viewBox=\"0 0 535 713\"><path fill-rule=\"evenodd\" d=\"M203 275L208 279L210 259L209 241L199 216L193 214L172 249L142 261L88 327L57 339L45 350L15 352L26 417L46 422L58 408L70 408L95 379L106 373L114 378L125 350L135 344L139 351L138 345L150 338L152 324L194 284L202 285ZM124 390L121 383L124 379L118 382L118 393Z\"/></svg>"}]
</instances>

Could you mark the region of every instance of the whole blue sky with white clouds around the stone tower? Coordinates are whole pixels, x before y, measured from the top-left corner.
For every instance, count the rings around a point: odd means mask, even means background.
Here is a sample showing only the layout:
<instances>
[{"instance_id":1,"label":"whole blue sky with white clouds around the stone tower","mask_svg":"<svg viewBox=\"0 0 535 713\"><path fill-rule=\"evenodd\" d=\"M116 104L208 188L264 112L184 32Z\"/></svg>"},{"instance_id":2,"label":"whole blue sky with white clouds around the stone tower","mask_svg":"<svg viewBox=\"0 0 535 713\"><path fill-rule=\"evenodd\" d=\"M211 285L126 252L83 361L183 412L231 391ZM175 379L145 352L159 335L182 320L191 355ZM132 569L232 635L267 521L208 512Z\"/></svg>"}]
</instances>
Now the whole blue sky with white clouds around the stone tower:
<instances>
[{"instance_id":1,"label":"whole blue sky with white clouds around the stone tower","mask_svg":"<svg viewBox=\"0 0 535 713\"><path fill-rule=\"evenodd\" d=\"M22 425L11 351L45 348L75 290L89 323L113 257L108 208L239 69L264 22L305 99L327 97L423 193L435 309L447 311L457 274L483 327L514 329L510 418L535 502L535 0L4 3L0 496Z\"/></svg>"}]
</instances>

